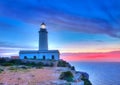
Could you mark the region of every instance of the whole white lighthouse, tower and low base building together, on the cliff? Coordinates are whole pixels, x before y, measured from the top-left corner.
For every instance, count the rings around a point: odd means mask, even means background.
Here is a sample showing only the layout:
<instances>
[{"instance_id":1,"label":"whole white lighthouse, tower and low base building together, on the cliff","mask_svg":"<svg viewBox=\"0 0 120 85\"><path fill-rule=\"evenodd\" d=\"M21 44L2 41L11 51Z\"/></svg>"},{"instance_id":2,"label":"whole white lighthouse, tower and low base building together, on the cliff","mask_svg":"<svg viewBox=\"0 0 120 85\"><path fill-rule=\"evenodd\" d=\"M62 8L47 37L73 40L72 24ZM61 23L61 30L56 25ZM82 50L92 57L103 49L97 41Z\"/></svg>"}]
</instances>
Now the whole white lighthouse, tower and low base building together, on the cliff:
<instances>
[{"instance_id":1,"label":"whole white lighthouse, tower and low base building together, on the cliff","mask_svg":"<svg viewBox=\"0 0 120 85\"><path fill-rule=\"evenodd\" d=\"M39 50L21 50L19 57L20 59L59 60L58 50L48 50L48 32L44 23L41 24L39 31Z\"/></svg>"}]
</instances>

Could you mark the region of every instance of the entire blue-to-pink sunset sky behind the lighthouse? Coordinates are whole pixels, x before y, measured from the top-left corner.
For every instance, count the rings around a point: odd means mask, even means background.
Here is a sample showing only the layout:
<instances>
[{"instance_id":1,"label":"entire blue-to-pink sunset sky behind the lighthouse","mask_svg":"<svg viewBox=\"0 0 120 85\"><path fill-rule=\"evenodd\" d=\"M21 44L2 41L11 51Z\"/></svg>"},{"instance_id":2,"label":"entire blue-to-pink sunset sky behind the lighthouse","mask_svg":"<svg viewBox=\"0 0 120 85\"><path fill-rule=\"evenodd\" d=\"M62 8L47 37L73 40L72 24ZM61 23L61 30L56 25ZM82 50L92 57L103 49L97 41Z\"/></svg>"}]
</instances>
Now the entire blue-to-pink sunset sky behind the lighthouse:
<instances>
[{"instance_id":1,"label":"entire blue-to-pink sunset sky behind the lighthouse","mask_svg":"<svg viewBox=\"0 0 120 85\"><path fill-rule=\"evenodd\" d=\"M120 0L0 0L0 56L37 50L42 22L61 59L120 62Z\"/></svg>"}]
</instances>

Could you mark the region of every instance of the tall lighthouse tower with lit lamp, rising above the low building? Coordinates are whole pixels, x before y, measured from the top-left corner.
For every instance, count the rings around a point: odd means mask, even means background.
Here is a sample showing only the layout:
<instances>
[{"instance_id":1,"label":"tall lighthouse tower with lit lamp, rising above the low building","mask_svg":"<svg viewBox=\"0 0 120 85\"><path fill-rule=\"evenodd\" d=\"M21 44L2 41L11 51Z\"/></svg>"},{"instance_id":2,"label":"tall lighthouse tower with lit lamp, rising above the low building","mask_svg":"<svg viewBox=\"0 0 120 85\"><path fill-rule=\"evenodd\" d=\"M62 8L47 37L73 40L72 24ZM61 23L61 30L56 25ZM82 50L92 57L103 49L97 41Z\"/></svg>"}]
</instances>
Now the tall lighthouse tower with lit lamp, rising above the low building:
<instances>
[{"instance_id":1,"label":"tall lighthouse tower with lit lamp, rising above the low building","mask_svg":"<svg viewBox=\"0 0 120 85\"><path fill-rule=\"evenodd\" d=\"M41 24L39 31L39 50L48 50L48 32L44 23Z\"/></svg>"}]
</instances>

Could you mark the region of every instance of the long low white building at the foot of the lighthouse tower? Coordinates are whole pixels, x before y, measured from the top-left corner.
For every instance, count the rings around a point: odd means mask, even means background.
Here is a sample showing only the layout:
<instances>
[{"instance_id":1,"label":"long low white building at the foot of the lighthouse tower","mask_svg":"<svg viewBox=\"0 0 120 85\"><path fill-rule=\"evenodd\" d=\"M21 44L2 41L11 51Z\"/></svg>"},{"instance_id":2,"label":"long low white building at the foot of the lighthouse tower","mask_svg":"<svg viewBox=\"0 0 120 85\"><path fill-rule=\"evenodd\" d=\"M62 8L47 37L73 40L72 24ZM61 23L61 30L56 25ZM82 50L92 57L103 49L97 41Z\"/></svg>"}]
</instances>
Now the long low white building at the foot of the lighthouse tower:
<instances>
[{"instance_id":1,"label":"long low white building at the foot of the lighthouse tower","mask_svg":"<svg viewBox=\"0 0 120 85\"><path fill-rule=\"evenodd\" d=\"M42 60L59 60L58 50L49 51L20 51L21 59L42 59Z\"/></svg>"}]
</instances>

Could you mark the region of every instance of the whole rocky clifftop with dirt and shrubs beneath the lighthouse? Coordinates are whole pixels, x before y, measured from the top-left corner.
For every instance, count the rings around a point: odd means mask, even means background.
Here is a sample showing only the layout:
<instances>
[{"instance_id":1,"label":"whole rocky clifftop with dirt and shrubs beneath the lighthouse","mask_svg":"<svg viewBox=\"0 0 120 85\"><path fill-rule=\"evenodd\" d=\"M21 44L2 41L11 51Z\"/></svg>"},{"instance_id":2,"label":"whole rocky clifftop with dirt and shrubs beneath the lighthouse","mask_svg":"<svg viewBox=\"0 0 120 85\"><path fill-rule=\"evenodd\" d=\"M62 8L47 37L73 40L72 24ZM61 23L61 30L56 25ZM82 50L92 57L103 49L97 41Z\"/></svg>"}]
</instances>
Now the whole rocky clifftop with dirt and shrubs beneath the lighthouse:
<instances>
[{"instance_id":1,"label":"whole rocky clifftop with dirt and shrubs beneath the lighthouse","mask_svg":"<svg viewBox=\"0 0 120 85\"><path fill-rule=\"evenodd\" d=\"M4 61L4 62L3 62ZM86 72L68 62L1 60L0 85L92 85Z\"/></svg>"}]
</instances>

